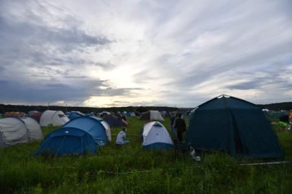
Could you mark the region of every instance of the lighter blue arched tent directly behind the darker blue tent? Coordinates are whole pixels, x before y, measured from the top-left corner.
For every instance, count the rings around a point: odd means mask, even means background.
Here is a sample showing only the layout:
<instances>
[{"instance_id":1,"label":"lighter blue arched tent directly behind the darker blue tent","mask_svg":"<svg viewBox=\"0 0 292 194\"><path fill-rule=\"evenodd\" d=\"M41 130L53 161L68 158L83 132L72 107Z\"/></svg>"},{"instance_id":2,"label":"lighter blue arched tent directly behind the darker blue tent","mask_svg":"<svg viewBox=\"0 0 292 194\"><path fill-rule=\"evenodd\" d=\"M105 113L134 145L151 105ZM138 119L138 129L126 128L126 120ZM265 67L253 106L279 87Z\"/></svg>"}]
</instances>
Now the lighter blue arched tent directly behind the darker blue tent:
<instances>
[{"instance_id":1,"label":"lighter blue arched tent directly behind the darker blue tent","mask_svg":"<svg viewBox=\"0 0 292 194\"><path fill-rule=\"evenodd\" d=\"M101 120L96 117L77 117L66 123L63 128L77 128L89 133L98 145L105 145L111 139Z\"/></svg>"}]
</instances>

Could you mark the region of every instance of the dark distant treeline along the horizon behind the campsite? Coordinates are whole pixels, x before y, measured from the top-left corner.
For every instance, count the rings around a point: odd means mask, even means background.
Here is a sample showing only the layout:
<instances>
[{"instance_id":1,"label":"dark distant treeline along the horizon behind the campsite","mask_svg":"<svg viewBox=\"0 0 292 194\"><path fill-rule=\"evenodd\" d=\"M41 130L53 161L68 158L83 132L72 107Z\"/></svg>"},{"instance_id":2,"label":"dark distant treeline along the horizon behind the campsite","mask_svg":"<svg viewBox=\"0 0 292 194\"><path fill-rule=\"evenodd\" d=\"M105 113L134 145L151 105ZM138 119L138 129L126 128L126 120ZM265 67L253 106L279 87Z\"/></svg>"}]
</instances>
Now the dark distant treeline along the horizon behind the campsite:
<instances>
[{"instance_id":1,"label":"dark distant treeline along the horizon behind the campsite","mask_svg":"<svg viewBox=\"0 0 292 194\"><path fill-rule=\"evenodd\" d=\"M267 108L269 110L292 110L292 102L282 102L274 104L258 104L260 108ZM111 108L93 108L93 107L80 107L80 106L49 106L49 110L62 110L63 112L67 111L80 111L83 113L88 112L117 112L117 111L139 111L146 112L147 110L166 110L166 111L186 111L192 110L193 108L174 108L167 106L126 106L126 107L111 107ZM48 110L47 106L25 106L25 105L11 105L11 104L0 104L0 113L5 112L29 112L30 110L37 110L39 112L44 112Z\"/></svg>"}]
</instances>

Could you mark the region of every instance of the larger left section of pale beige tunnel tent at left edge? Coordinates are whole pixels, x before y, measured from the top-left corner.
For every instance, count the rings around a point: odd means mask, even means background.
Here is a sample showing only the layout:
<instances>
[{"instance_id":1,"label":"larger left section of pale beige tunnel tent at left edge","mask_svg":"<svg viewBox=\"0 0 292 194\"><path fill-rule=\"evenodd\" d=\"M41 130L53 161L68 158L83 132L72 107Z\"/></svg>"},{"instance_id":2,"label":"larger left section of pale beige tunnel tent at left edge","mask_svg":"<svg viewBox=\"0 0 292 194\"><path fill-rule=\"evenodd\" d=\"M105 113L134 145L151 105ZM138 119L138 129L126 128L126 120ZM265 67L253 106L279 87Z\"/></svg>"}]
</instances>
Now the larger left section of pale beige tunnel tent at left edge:
<instances>
[{"instance_id":1,"label":"larger left section of pale beige tunnel tent at left edge","mask_svg":"<svg viewBox=\"0 0 292 194\"><path fill-rule=\"evenodd\" d=\"M27 143L28 131L25 123L17 118L0 119L0 147Z\"/></svg>"}]
</instances>

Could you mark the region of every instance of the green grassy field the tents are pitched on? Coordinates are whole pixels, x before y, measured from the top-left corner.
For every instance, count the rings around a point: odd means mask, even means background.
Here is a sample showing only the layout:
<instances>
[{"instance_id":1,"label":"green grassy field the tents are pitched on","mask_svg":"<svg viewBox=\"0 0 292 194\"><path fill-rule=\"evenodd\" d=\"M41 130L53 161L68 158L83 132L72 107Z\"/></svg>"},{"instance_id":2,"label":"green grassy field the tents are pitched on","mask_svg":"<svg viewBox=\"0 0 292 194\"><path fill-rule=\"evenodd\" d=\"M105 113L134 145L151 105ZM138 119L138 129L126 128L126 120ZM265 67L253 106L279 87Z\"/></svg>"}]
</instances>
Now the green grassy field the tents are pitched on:
<instances>
[{"instance_id":1,"label":"green grassy field the tents are pitched on","mask_svg":"<svg viewBox=\"0 0 292 194\"><path fill-rule=\"evenodd\" d=\"M144 121L128 121L131 144L117 148L113 141L94 155L32 157L41 142L0 150L0 193L291 193L291 163L241 166L275 160L202 153L195 162L175 150L146 151L139 138ZM168 119L162 123L170 128ZM113 140L119 131L112 129ZM284 160L292 161L292 132L276 132Z\"/></svg>"}]
</instances>

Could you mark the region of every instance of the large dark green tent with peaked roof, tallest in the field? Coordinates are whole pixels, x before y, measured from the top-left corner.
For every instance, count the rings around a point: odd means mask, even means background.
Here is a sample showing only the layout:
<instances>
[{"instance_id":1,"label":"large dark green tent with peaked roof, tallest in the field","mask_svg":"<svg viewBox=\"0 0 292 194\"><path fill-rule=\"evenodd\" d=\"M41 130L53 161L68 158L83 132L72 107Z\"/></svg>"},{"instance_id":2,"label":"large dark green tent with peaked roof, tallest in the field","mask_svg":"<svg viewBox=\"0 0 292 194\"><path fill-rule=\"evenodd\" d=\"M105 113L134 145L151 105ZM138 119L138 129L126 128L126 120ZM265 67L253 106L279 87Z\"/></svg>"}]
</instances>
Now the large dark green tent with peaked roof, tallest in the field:
<instances>
[{"instance_id":1,"label":"large dark green tent with peaked roof, tallest in the field","mask_svg":"<svg viewBox=\"0 0 292 194\"><path fill-rule=\"evenodd\" d=\"M226 151L237 158L283 158L265 114L255 104L221 95L198 106L186 132L186 144L199 150Z\"/></svg>"}]
</instances>

